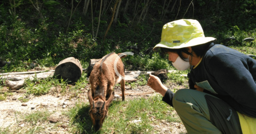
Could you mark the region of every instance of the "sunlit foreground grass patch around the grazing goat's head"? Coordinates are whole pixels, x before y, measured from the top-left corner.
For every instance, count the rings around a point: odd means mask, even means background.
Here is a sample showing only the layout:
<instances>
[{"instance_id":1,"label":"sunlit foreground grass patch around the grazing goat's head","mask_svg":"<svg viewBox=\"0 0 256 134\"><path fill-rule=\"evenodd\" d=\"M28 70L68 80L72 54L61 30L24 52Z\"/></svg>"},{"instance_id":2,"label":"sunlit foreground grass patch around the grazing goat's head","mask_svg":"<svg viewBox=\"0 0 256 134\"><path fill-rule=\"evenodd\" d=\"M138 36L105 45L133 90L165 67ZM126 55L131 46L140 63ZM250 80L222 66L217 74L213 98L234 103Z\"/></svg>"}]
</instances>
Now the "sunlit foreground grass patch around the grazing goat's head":
<instances>
[{"instance_id":1,"label":"sunlit foreground grass patch around the grazing goat's head","mask_svg":"<svg viewBox=\"0 0 256 134\"><path fill-rule=\"evenodd\" d=\"M129 101L113 101L109 106L108 117L105 119L100 133L157 133L152 124L180 122L173 115L171 106L164 103L160 95L148 99L138 98ZM67 114L71 118L70 125L75 133L96 133L92 129L88 114L89 104L78 103Z\"/></svg>"}]
</instances>

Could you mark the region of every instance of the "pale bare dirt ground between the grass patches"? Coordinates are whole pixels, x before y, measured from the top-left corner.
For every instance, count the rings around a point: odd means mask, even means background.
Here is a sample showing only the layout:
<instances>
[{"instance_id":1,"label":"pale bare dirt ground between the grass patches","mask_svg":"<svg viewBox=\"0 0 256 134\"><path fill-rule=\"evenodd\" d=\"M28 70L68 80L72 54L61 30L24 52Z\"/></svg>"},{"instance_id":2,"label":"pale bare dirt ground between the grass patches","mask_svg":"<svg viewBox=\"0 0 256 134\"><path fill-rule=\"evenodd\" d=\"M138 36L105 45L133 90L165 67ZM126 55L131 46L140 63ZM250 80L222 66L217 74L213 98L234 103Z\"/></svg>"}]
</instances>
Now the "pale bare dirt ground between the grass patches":
<instances>
[{"instance_id":1,"label":"pale bare dirt ground between the grass patches","mask_svg":"<svg viewBox=\"0 0 256 134\"><path fill-rule=\"evenodd\" d=\"M175 84L167 85L168 88L173 89L176 87ZM31 114L36 111L40 110L47 110L52 113L49 117L49 122L46 122L45 129L42 133L45 134L70 134L68 128L69 117L63 115L63 112L68 112L70 108L74 107L77 102L88 102L87 99L87 91L89 89L89 83L86 85L86 88L80 89L82 92L76 96L72 97L72 94L65 93L56 93L54 92L55 89L51 90L46 95L41 96L27 96L29 101L28 102L21 102L18 100L20 97L24 97L24 91L16 91L13 92L12 96L7 97L4 101L0 101L0 128L2 130L6 128L25 128L26 122L23 115ZM4 88L4 90L8 90ZM120 86L116 86L114 88L115 94L121 94ZM147 98L149 96L158 94L152 93L152 90L149 86L138 86L136 88L131 88L129 85L125 87L126 100L129 101L130 99L143 97ZM151 92L149 94L141 94ZM129 95L130 94L130 95ZM65 105L65 106L64 106ZM177 115L176 112L174 114ZM59 127L57 129L52 130L51 124L52 122L59 122ZM185 127L180 122L166 122L161 121L160 124L152 124L155 129L160 131L159 134L180 134L186 133Z\"/></svg>"}]
</instances>

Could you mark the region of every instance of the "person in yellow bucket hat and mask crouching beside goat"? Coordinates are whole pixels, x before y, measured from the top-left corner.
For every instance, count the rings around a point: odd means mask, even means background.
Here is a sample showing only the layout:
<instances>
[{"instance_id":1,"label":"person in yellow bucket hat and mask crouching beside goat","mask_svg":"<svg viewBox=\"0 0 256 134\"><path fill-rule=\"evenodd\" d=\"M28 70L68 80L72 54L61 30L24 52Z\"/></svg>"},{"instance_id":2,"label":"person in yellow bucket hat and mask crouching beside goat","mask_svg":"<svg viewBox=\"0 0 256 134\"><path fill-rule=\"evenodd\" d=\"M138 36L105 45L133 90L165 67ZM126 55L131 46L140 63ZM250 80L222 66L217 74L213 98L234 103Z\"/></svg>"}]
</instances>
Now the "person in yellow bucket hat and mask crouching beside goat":
<instances>
[{"instance_id":1,"label":"person in yellow bucket hat and mask crouching beside goat","mask_svg":"<svg viewBox=\"0 0 256 134\"><path fill-rule=\"evenodd\" d=\"M190 68L189 88L176 93L150 75L148 86L173 106L188 134L256 133L256 60L205 37L197 20L164 25L161 49L178 70Z\"/></svg>"}]
</instances>

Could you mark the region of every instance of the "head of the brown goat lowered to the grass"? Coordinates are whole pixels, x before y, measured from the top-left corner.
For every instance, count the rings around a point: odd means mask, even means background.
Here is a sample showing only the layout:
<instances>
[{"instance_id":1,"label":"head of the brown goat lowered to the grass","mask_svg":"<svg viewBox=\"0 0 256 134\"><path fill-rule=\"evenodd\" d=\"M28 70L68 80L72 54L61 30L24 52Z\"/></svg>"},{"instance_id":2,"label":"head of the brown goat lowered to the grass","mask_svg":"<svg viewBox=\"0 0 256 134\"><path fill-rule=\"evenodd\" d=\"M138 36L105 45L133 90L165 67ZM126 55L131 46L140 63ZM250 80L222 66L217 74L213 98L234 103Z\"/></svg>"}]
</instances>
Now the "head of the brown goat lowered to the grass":
<instances>
[{"instance_id":1,"label":"head of the brown goat lowered to the grass","mask_svg":"<svg viewBox=\"0 0 256 134\"><path fill-rule=\"evenodd\" d=\"M88 99L91 106L89 115L91 116L91 119L92 119L93 128L96 131L100 130L106 116L108 115L108 106L113 100L114 95L115 93L112 92L108 100L105 101L100 97L93 99L91 90L88 91Z\"/></svg>"}]
</instances>

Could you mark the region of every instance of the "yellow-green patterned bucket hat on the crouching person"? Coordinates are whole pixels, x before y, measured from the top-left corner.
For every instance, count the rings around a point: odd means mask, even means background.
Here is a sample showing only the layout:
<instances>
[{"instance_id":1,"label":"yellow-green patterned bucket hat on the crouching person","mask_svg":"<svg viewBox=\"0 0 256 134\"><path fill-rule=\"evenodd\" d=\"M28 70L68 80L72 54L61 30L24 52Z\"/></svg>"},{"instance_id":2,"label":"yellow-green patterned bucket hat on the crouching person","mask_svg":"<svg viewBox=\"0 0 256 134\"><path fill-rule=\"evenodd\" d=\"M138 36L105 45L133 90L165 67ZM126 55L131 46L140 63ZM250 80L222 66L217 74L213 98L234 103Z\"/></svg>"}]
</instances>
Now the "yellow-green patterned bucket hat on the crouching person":
<instances>
[{"instance_id":1,"label":"yellow-green patterned bucket hat on the crouching person","mask_svg":"<svg viewBox=\"0 0 256 134\"><path fill-rule=\"evenodd\" d=\"M216 40L216 38L204 36L203 28L197 20L181 19L164 25L161 42L158 43L153 50L160 47L179 49Z\"/></svg>"}]
</instances>

